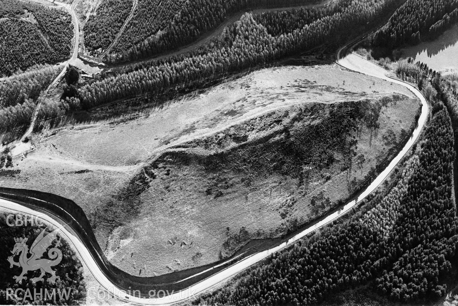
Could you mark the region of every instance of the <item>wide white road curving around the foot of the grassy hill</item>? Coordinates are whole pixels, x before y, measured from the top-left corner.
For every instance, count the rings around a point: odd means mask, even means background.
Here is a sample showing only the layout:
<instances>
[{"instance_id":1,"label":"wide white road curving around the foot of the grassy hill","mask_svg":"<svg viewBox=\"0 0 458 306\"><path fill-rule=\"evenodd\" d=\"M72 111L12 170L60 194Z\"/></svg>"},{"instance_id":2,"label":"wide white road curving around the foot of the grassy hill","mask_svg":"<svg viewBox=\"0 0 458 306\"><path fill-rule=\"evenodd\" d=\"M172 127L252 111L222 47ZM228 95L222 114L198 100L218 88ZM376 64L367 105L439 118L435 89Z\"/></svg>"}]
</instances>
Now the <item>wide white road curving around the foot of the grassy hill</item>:
<instances>
[{"instance_id":1,"label":"wide white road curving around the foot of the grassy hill","mask_svg":"<svg viewBox=\"0 0 458 306\"><path fill-rule=\"evenodd\" d=\"M76 231L74 231L69 225L64 226L64 228L61 230L63 235L66 236L66 239L68 241L71 241L74 244L75 249L77 250L77 252L79 252L82 260L86 263L87 267L90 269L95 279L97 279L97 281L111 294L119 297L121 300L124 300L124 301L136 303L136 304L142 304L142 305L174 304L176 302L183 301L185 299L193 297L194 295L198 293L204 292L205 290L212 287L213 285L216 285L220 283L221 281L224 281L225 279L228 279L229 277L233 276L234 274L237 274L243 271L244 269L250 267L251 265L262 261L263 259L267 258L272 253L278 252L281 249L283 249L284 247L287 247L293 244L294 242L298 241L300 238L311 233L312 231L315 231L316 229L322 227L323 225L326 225L327 223L339 218L339 216L343 215L346 211L353 208L357 203L359 203L366 196L368 196L372 191L374 191L385 180L388 174L394 169L394 167L403 158L403 156L406 155L410 147L418 139L420 132L423 129L425 122L426 122L426 118L428 115L428 105L427 105L425 97L421 94L420 91L414 88L414 86L411 86L410 84L407 84L403 81L399 81L399 80L395 80L390 77L387 77L385 75L385 73L387 72L386 70L383 70L381 67L378 67L375 64L372 64L371 62L365 59L362 59L361 57L355 54L349 54L344 59L339 59L338 64L350 70L358 71L366 75L375 76L377 78L380 78L386 81L390 81L396 84L403 85L407 87L410 91L412 91L420 99L422 103L421 116L418 121L418 126L414 130L412 137L409 139L409 141L404 146L404 148L399 152L399 154L393 159L393 161L391 161L391 163L387 166L387 168L382 173L380 173L378 177L376 177L376 179L371 183L371 185L368 188L366 188L365 191L357 197L357 199L354 199L353 201L349 202L342 209L334 212L331 215L328 215L325 219L317 222L315 225L311 225L304 231L301 231L299 234L290 238L287 242L283 242L282 244L280 244L277 247L273 247L271 249L261 251L251 256L242 258L237 263L234 263L230 265L229 267L224 268L223 270L219 271L218 273L213 274L212 276L197 282L195 285L191 285L190 287L188 287L185 290L174 292L163 298L140 298L138 296L134 297L132 295L127 295L126 292L122 290L117 284L112 283L103 273L103 271L98 267L91 253L87 250L85 243L83 242L83 239L76 234ZM25 214L29 214L29 215L35 215L35 216L39 215L40 218L42 218L43 220L49 222L50 224L56 227L61 227L62 225L65 224L63 220L60 220L59 217L55 215L44 215L37 210L29 209L20 204L16 204L14 202L7 201L4 199L0 199L0 207L16 210L16 211L19 211ZM131 290L134 290L134 289L135 288L132 288ZM167 288L164 288L164 290L167 290Z\"/></svg>"}]
</instances>

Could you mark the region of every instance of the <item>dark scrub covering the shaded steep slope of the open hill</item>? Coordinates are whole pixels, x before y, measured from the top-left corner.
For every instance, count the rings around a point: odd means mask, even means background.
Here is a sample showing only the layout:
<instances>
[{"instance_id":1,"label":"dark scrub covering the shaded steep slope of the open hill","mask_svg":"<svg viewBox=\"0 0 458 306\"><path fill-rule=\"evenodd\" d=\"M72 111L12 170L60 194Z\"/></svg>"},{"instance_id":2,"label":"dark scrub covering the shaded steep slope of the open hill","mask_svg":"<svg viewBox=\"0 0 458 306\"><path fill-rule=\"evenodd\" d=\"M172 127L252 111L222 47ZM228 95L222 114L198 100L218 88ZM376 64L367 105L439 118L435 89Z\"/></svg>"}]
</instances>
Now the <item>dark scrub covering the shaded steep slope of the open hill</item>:
<instances>
[{"instance_id":1,"label":"dark scrub covering the shaded steep slope of the open hill","mask_svg":"<svg viewBox=\"0 0 458 306\"><path fill-rule=\"evenodd\" d=\"M402 130L397 135L398 141L380 149L377 162L371 166L365 165L367 169L364 175L362 171L361 175L359 171L354 173L354 169L362 165L359 161L361 155L356 154L358 146L360 152L363 146L359 142L361 134L370 131L382 134L383 129L379 129L381 113L390 104L405 102L406 97L393 94L378 100L305 104L289 110L272 111L216 134L172 146L138 171L112 201L104 204L93 215L92 224L94 227L106 225L111 228L117 220L128 222L141 214L142 205L155 205L140 199L156 199L160 194L158 190L164 188L171 199L182 197L181 188L193 190L189 194L192 200L188 202L188 199L183 199L180 204L174 205L176 209L196 203L207 205L209 202L206 202L205 196L212 199L229 196L234 202L246 196L243 200L245 205L254 207L253 202L257 200L253 199L258 198L253 191L264 188L260 182L273 182L274 177L282 177L292 179L294 183L291 184L296 186L294 197L291 198L294 203L285 203L284 206L290 206L281 209L284 225L270 234L264 230L273 226L265 225L256 235L257 238L260 235L270 235L272 238L295 231L360 192L397 155L408 141L410 130ZM412 130L415 124L412 122ZM256 138L254 135L262 136ZM329 180L344 172L348 193L338 194L332 203L323 194L318 194L311 208L307 208L305 203L310 203L310 199L306 195L316 191L317 181L324 183L322 174L326 173ZM192 179L189 179L191 176ZM195 180L200 182L198 186L194 185ZM225 199L218 199L216 206L224 206L223 201ZM275 201L272 198L272 202ZM300 206L303 210L297 214L291 213L294 209L289 208L294 204L297 204L296 207L303 205ZM159 210L158 207L156 209ZM227 218L221 217L223 219ZM251 227L248 229L251 230ZM228 239L224 245L226 254L232 255L243 243L256 239L253 232L245 234L240 233L236 239Z\"/></svg>"}]
</instances>

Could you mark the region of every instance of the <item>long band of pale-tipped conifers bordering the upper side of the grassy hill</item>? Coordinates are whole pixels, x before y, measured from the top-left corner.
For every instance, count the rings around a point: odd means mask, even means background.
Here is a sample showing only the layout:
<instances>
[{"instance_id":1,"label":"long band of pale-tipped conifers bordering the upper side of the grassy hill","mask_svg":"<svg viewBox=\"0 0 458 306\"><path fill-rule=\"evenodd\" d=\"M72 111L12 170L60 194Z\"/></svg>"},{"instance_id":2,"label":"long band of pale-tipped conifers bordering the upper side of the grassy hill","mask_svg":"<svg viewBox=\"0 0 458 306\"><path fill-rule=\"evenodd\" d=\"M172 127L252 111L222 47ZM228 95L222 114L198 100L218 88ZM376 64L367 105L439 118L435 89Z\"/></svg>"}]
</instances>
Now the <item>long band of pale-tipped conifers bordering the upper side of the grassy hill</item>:
<instances>
[{"instance_id":1,"label":"long band of pale-tipped conifers bordering the upper side of the grassy hill","mask_svg":"<svg viewBox=\"0 0 458 306\"><path fill-rule=\"evenodd\" d=\"M257 17L259 20L246 14L234 25L226 27L210 46L191 54L134 65L130 68L133 71L94 81L80 88L81 106L93 107L108 102L112 97L133 97L161 91L218 73L266 64L303 48L332 43L341 29L350 24L366 24L390 4L391 1L378 0L342 1L336 9L293 11L287 16L291 21L284 23L283 29L278 28L272 33L262 21L273 18L272 24L280 27L282 24L279 20L284 20L281 13L274 12L273 16L263 14ZM245 32L253 34L245 37Z\"/></svg>"}]
</instances>

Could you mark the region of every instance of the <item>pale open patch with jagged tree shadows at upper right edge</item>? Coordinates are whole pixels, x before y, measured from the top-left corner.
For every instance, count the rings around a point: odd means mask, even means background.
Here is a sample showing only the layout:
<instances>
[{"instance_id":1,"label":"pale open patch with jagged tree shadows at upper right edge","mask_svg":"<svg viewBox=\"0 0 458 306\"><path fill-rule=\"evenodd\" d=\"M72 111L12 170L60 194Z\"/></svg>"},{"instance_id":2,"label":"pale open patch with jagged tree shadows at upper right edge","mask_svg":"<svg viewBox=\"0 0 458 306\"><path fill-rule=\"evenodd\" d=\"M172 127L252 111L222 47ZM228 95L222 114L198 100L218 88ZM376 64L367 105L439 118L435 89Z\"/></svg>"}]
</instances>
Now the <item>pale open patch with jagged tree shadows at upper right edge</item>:
<instances>
[{"instance_id":1,"label":"pale open patch with jagged tree shadows at upper right edge","mask_svg":"<svg viewBox=\"0 0 458 306\"><path fill-rule=\"evenodd\" d=\"M403 58L426 63L432 70L442 74L458 73L458 24L437 39L402 49Z\"/></svg>"}]
</instances>

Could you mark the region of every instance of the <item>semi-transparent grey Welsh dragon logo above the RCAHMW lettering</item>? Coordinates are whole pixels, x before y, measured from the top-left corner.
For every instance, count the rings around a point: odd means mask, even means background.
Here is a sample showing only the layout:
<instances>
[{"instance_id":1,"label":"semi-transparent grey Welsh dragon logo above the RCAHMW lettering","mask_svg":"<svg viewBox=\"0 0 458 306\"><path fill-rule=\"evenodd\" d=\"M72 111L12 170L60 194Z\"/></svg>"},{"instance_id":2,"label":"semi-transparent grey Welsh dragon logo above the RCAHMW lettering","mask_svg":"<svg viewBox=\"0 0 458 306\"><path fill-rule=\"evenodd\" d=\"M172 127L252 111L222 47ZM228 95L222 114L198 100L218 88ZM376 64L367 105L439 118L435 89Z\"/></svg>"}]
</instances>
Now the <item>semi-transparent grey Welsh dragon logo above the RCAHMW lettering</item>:
<instances>
[{"instance_id":1,"label":"semi-transparent grey Welsh dragon logo above the RCAHMW lettering","mask_svg":"<svg viewBox=\"0 0 458 306\"><path fill-rule=\"evenodd\" d=\"M50 232L48 235L44 236L44 229L32 243L30 247L30 251L26 244L27 238L14 238L16 244L14 245L13 250L11 253L13 256L8 257L8 261L10 262L10 268L13 266L18 266L22 268L22 273L18 276L13 276L16 279L16 283L22 284L22 279L27 279L25 274L28 271L38 270L40 269L41 275L38 277L34 277L32 280L34 282L43 281L43 276L46 273L51 274L51 277L48 278L48 283L54 284L56 279L60 279L59 276L56 276L55 272L51 267L57 266L60 261L62 260L62 252L58 247L60 247L60 238L55 243L54 247L51 247L48 251L48 256L51 260L46 258L41 258L43 253L46 252L46 249L50 247L55 239L57 239L57 232L60 229ZM29 257L30 253L30 257ZM14 256L19 255L19 261L14 261Z\"/></svg>"}]
</instances>

